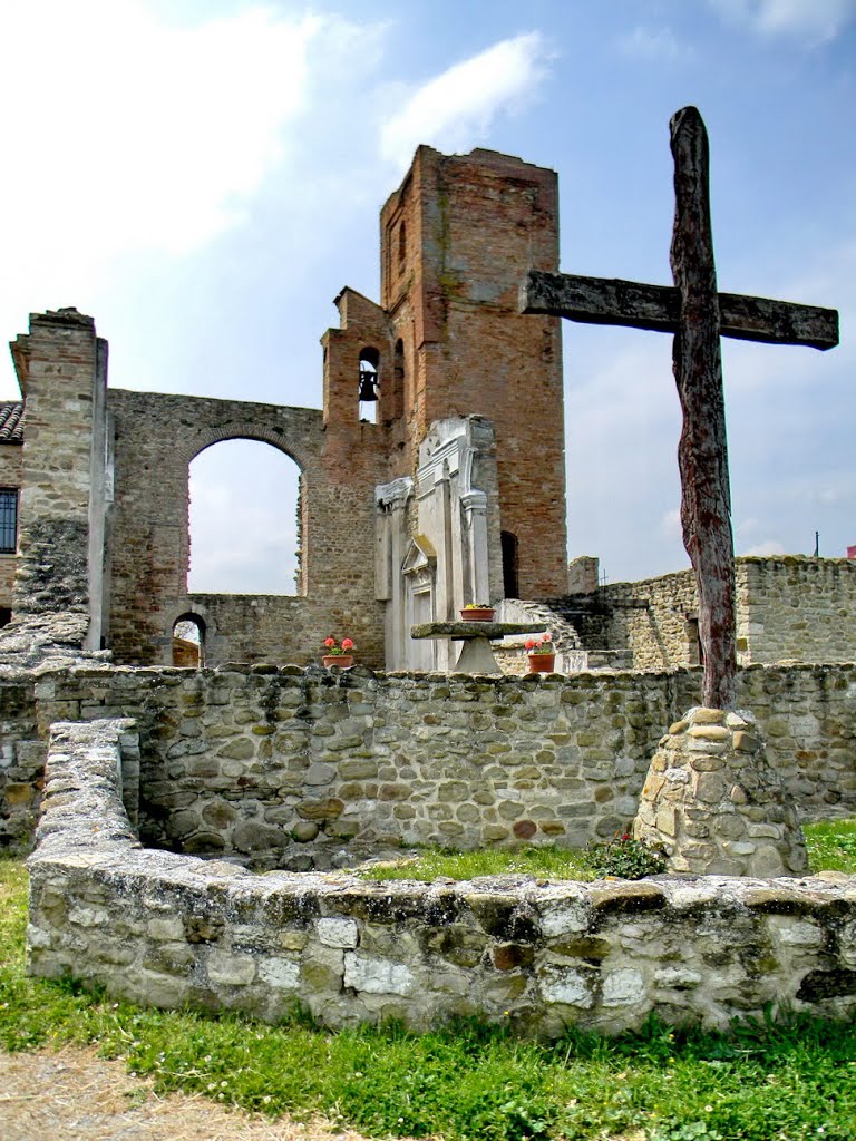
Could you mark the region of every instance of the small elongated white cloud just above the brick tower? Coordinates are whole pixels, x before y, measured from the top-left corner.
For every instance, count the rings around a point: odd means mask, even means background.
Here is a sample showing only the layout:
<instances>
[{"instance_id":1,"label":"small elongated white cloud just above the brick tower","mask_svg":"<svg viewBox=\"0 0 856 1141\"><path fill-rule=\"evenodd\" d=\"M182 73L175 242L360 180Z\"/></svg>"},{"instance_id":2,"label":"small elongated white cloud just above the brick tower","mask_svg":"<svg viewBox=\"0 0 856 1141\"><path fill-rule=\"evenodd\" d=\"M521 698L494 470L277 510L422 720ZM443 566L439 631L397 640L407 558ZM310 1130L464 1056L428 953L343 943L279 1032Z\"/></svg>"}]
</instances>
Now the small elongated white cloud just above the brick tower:
<instances>
[{"instance_id":1,"label":"small elongated white cloud just above the brick tower","mask_svg":"<svg viewBox=\"0 0 856 1141\"><path fill-rule=\"evenodd\" d=\"M460 151L483 138L495 115L531 95L544 74L538 32L501 40L423 83L381 128L380 153L405 167L420 143Z\"/></svg>"}]
</instances>

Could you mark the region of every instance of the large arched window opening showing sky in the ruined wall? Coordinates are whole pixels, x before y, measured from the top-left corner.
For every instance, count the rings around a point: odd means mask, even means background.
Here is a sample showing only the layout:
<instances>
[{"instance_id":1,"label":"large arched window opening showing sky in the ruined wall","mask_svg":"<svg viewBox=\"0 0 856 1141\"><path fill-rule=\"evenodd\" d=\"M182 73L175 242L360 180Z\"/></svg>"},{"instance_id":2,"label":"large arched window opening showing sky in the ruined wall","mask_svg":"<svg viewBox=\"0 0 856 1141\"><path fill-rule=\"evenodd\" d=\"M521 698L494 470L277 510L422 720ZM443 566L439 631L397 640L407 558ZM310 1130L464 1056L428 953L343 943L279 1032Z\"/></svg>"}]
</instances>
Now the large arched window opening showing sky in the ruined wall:
<instances>
[{"instance_id":1,"label":"large arched window opening showing sky in the ruined wall","mask_svg":"<svg viewBox=\"0 0 856 1141\"><path fill-rule=\"evenodd\" d=\"M272 444L227 439L189 469L191 593L299 594L300 469Z\"/></svg>"}]
</instances>

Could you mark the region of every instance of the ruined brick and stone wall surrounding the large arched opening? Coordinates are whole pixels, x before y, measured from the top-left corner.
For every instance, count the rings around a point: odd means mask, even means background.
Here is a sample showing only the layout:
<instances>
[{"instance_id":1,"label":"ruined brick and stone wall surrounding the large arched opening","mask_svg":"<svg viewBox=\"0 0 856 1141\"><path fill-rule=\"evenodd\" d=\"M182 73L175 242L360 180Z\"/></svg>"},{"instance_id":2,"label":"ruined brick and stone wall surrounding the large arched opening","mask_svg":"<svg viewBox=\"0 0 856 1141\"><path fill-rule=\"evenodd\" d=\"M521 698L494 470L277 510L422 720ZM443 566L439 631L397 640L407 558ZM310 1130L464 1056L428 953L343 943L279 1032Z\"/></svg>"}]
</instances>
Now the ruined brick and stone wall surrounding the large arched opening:
<instances>
[{"instance_id":1,"label":"ruined brick and stone wall surrounding the large arched opening","mask_svg":"<svg viewBox=\"0 0 856 1141\"><path fill-rule=\"evenodd\" d=\"M201 608L205 657L228 662L317 659L329 634L349 634L361 661L383 661L373 590L378 445L350 426L353 458L328 454L320 411L112 390L116 502L110 645L120 662L168 663L172 623ZM301 470L304 596L253 599L187 593L191 460L224 439L278 447ZM248 489L251 494L251 489ZM240 542L241 520L228 520Z\"/></svg>"}]
</instances>

